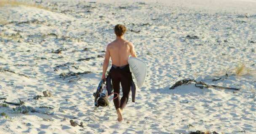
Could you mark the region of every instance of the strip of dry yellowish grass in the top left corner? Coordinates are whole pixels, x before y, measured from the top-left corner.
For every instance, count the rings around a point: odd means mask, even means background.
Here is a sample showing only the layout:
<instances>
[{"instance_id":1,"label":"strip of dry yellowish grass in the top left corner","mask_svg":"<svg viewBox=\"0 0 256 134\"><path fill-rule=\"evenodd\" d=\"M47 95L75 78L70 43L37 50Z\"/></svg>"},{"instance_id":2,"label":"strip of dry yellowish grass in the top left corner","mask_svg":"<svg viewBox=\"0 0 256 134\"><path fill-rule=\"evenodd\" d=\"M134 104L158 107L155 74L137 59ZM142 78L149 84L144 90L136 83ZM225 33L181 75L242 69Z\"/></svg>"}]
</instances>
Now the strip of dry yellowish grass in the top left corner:
<instances>
[{"instance_id":1,"label":"strip of dry yellowish grass in the top left corner","mask_svg":"<svg viewBox=\"0 0 256 134\"><path fill-rule=\"evenodd\" d=\"M22 3L22 2L18 2L18 1L8 1L8 0L1 0L0 1L0 7L5 6L5 5L11 5L11 6L27 6L27 7L34 7L34 8L40 8L40 9L44 9L44 10L49 10L46 7L43 7L41 5L38 4L32 4L32 3ZM0 21L1 23L1 21Z\"/></svg>"}]
</instances>

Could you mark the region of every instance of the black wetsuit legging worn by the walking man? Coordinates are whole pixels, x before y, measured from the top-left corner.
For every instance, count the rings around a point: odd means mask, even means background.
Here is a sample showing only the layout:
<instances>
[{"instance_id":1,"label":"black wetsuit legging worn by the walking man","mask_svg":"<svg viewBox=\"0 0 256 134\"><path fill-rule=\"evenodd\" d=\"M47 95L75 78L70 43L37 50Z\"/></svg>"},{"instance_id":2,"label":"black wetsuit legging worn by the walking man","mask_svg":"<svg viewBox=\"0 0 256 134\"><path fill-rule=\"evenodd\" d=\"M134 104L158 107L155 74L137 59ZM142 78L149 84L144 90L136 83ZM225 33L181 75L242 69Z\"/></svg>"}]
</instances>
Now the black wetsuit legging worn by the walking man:
<instances>
[{"instance_id":1,"label":"black wetsuit legging worn by the walking man","mask_svg":"<svg viewBox=\"0 0 256 134\"><path fill-rule=\"evenodd\" d=\"M110 74L111 74L111 79L112 79L112 85L114 88L114 93L118 93L114 95L114 104L115 108L125 108L126 103L128 102L129 98L129 93L131 90L131 81L132 81L132 76L131 76L131 71L129 68L129 65L124 65L121 67L117 67L115 65L112 65L110 69ZM120 82L122 86L122 92L123 96L120 100Z\"/></svg>"}]
</instances>

